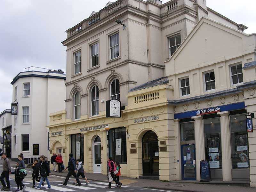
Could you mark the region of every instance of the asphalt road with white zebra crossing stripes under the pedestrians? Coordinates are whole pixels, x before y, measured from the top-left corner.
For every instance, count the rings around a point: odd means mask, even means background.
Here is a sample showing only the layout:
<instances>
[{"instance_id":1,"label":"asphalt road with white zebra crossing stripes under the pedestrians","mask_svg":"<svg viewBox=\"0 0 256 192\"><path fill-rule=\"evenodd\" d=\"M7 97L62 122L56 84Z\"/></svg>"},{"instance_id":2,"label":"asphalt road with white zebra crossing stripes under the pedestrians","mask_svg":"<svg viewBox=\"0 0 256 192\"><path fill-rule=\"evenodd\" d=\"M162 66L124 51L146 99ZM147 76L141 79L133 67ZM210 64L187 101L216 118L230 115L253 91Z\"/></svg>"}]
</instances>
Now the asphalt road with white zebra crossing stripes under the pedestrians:
<instances>
[{"instance_id":1,"label":"asphalt road with white zebra crossing stripes under the pedestrians","mask_svg":"<svg viewBox=\"0 0 256 192\"><path fill-rule=\"evenodd\" d=\"M15 169L12 168L12 171ZM3 171L3 166L0 165L0 172L2 173ZM70 178L68 181L67 186L63 186L61 183L64 182L65 177L60 177L60 176L55 176L51 175L48 177L50 183L51 183L51 189L46 189L47 184L45 182L44 187L41 187L41 189L36 189L36 188L31 188L33 186L32 182L32 172L28 171L28 175L25 177L23 180L23 184L27 186L25 189L25 192L40 192L40 191L47 191L47 192L76 192L76 191L88 191L88 192L119 192L119 191L141 191L141 192L172 192L169 190L159 190L159 189L148 189L148 188L140 188L140 187L132 187L128 185L123 185L121 188L115 188L115 184L112 183L112 188L106 189L105 187L108 186L107 182L99 182L99 181L89 181L89 185L84 185L85 180L83 180L81 177L79 178L82 185L81 186L75 186L73 185L75 179ZM11 183L11 191L15 191L17 189L17 185L15 183L15 175L11 174L10 175L10 183ZM36 185L39 183L36 182ZM0 186L2 188L2 184Z\"/></svg>"}]
</instances>

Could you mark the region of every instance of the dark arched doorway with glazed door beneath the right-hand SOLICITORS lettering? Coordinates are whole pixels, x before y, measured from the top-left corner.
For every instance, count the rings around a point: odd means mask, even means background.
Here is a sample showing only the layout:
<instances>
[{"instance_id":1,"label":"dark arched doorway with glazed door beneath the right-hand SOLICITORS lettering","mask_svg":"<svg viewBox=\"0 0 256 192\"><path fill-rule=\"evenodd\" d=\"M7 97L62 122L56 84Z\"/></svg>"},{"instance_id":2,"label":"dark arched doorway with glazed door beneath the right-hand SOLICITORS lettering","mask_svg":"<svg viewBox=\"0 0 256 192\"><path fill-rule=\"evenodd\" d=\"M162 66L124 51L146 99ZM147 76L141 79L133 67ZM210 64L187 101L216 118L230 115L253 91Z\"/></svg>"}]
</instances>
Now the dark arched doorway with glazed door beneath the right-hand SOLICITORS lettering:
<instances>
[{"instance_id":1,"label":"dark arched doorway with glazed door beneath the right-hand SOLICITORS lettering","mask_svg":"<svg viewBox=\"0 0 256 192\"><path fill-rule=\"evenodd\" d=\"M142 138L143 176L159 176L158 139L153 131L148 131Z\"/></svg>"}]
</instances>

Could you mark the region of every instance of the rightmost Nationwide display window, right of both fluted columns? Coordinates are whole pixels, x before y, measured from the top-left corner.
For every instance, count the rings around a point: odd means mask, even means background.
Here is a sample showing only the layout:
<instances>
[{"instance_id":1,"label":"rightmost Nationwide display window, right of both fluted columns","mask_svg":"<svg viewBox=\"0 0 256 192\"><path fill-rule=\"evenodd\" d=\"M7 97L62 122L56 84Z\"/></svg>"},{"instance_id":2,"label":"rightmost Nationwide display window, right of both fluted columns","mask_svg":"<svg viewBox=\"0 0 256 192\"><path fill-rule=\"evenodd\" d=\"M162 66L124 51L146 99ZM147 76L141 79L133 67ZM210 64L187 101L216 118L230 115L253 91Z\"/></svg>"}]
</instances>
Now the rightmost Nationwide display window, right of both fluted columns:
<instances>
[{"instance_id":1,"label":"rightmost Nationwide display window, right of both fluted columns","mask_svg":"<svg viewBox=\"0 0 256 192\"><path fill-rule=\"evenodd\" d=\"M249 168L248 134L245 114L230 116L232 167Z\"/></svg>"}]
</instances>

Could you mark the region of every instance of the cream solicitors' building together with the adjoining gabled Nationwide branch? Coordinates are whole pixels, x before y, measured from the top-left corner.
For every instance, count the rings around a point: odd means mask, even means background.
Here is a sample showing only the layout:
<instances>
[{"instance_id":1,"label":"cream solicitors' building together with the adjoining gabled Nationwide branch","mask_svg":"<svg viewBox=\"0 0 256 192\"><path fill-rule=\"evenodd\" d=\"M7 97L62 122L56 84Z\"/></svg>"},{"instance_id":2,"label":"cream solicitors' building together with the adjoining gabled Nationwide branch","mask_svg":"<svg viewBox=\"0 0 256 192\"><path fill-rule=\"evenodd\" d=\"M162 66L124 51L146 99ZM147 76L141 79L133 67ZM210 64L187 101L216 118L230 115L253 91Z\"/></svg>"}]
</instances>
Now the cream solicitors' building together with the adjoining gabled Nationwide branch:
<instances>
[{"instance_id":1,"label":"cream solicitors' building together with the adjoining gabled Nationwide branch","mask_svg":"<svg viewBox=\"0 0 256 192\"><path fill-rule=\"evenodd\" d=\"M255 80L255 35L246 28L205 0L118 0L92 12L62 42L66 110L50 116L52 153L61 151L65 165L73 153L86 172L103 174L112 156L123 176L160 180L200 180L199 163L207 159L213 179L255 185L253 133L244 132L244 114L253 112L244 89ZM106 118L110 99L124 106L121 118ZM232 132L232 118L241 132ZM237 150L234 142L244 145Z\"/></svg>"}]
</instances>

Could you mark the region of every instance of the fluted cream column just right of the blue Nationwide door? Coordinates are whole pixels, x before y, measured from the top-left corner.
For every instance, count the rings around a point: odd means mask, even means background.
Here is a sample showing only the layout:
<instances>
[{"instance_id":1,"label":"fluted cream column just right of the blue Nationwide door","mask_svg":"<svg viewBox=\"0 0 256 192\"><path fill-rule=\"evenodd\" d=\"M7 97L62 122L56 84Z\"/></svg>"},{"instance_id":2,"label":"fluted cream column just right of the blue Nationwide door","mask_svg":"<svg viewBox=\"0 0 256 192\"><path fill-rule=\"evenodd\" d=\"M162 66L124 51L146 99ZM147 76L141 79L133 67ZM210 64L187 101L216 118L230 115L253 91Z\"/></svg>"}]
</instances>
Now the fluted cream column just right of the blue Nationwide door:
<instances>
[{"instance_id":1,"label":"fluted cream column just right of the blue Nationwide door","mask_svg":"<svg viewBox=\"0 0 256 192\"><path fill-rule=\"evenodd\" d=\"M200 161L205 160L204 148L204 121L203 116L193 116L195 120L195 146L196 146L196 180L200 181Z\"/></svg>"}]
</instances>

